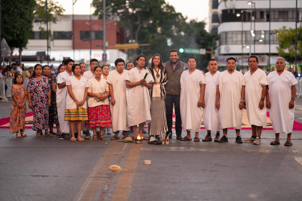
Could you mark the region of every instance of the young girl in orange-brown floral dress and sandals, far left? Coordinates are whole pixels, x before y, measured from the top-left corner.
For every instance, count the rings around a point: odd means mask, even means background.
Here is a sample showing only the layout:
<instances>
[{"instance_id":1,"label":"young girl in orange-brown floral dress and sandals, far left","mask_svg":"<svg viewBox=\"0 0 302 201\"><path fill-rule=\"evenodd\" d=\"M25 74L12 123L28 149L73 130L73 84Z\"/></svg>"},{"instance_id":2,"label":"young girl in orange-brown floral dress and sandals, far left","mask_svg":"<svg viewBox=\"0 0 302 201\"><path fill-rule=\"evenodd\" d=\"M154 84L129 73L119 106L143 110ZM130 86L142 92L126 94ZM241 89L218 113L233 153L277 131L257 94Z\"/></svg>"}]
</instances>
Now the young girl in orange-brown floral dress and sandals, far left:
<instances>
[{"instance_id":1,"label":"young girl in orange-brown floral dress and sandals, far left","mask_svg":"<svg viewBox=\"0 0 302 201\"><path fill-rule=\"evenodd\" d=\"M9 130L16 133L16 137L26 137L25 116L26 116L26 99L27 89L23 84L23 77L17 74L14 78L14 85L11 87L11 118L9 121ZM21 133L20 133L21 132Z\"/></svg>"}]
</instances>

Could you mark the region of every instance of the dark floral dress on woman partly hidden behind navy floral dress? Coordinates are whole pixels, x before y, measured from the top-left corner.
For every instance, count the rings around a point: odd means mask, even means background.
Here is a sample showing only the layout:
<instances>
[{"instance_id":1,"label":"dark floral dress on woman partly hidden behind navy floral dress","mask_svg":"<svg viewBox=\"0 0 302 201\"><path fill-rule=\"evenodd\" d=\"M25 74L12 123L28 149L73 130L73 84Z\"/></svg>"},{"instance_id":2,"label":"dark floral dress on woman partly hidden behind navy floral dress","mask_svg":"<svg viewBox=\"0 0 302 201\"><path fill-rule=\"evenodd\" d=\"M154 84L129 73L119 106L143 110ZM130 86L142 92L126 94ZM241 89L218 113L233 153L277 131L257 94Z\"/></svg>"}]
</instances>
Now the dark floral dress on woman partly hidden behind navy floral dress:
<instances>
[{"instance_id":1,"label":"dark floral dress on woman partly hidden behind navy floral dress","mask_svg":"<svg viewBox=\"0 0 302 201\"><path fill-rule=\"evenodd\" d=\"M56 77L49 76L48 81L50 84L50 87L53 83L56 83ZM58 118L58 108L56 106L56 94L51 90L51 105L49 107L49 126L53 127L53 124L59 124L59 118Z\"/></svg>"}]
</instances>

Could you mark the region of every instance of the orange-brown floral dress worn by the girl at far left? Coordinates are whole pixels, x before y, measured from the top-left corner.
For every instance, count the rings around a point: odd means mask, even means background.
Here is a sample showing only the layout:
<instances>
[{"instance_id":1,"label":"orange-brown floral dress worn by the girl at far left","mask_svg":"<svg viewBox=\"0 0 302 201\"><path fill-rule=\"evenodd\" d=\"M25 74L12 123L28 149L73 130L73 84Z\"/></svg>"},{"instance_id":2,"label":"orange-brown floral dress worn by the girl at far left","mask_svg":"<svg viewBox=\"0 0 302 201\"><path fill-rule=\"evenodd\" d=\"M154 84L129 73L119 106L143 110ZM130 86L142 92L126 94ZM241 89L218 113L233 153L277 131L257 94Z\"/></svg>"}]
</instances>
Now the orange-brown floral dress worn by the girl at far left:
<instances>
[{"instance_id":1,"label":"orange-brown floral dress worn by the girl at far left","mask_svg":"<svg viewBox=\"0 0 302 201\"><path fill-rule=\"evenodd\" d=\"M27 96L27 89L24 84L21 87L14 84L11 87L11 96L14 96L18 104L24 103L24 98ZM18 130L25 129L26 103L22 108L13 100L11 102L11 118L9 120L9 131L16 133Z\"/></svg>"}]
</instances>

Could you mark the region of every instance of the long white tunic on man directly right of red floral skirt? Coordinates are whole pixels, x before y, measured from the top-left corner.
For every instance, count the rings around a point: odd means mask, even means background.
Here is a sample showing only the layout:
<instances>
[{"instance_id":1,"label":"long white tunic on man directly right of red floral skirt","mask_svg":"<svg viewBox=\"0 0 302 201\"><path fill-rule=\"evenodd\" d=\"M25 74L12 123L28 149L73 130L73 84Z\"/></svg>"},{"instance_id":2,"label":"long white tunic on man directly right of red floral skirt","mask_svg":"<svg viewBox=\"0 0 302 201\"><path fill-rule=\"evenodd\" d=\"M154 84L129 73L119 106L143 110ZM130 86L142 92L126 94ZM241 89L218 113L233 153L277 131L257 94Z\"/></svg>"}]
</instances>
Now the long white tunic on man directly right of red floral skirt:
<instances>
[{"instance_id":1,"label":"long white tunic on man directly right of red floral skirt","mask_svg":"<svg viewBox=\"0 0 302 201\"><path fill-rule=\"evenodd\" d=\"M128 130L126 82L124 81L127 74L127 70L124 70L121 75L117 70L114 70L111 71L107 77L107 82L112 84L115 99L114 105L110 103L112 132Z\"/></svg>"}]
</instances>

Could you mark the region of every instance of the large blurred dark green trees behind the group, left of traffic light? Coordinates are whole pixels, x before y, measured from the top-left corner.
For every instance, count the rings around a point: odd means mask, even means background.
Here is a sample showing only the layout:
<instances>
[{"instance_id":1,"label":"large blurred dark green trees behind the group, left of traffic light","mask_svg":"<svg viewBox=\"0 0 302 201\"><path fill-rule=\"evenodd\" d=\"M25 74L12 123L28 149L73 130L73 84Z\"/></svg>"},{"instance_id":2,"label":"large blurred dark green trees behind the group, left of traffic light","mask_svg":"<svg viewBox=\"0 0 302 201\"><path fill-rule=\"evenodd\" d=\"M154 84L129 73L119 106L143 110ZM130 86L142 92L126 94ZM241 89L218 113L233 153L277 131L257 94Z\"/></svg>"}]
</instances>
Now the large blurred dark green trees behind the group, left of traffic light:
<instances>
[{"instance_id":1,"label":"large blurred dark green trees behind the group, left of traffic light","mask_svg":"<svg viewBox=\"0 0 302 201\"><path fill-rule=\"evenodd\" d=\"M107 13L116 14L120 18L120 26L124 27L126 33L126 43L130 40L140 44L150 43L149 47L140 48L140 53L147 58L159 53L163 61L169 61L171 49L208 49L212 46L213 38L217 37L204 30L204 22L186 22L186 18L165 0L106 0L106 6L108 5L110 8ZM96 8L95 15L102 19L103 1L93 0L93 6ZM168 46L168 40L172 43L171 46ZM128 53L130 61L133 61L138 52L130 50ZM182 54L181 60L185 61L188 56L190 55ZM210 57L194 56L198 58L199 68Z\"/></svg>"}]
</instances>

